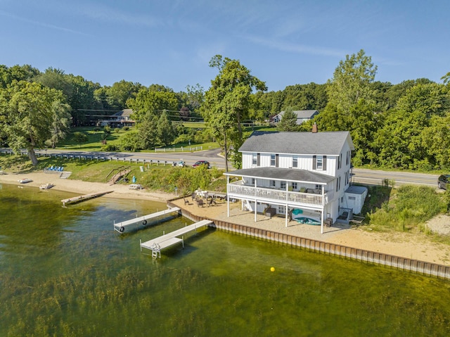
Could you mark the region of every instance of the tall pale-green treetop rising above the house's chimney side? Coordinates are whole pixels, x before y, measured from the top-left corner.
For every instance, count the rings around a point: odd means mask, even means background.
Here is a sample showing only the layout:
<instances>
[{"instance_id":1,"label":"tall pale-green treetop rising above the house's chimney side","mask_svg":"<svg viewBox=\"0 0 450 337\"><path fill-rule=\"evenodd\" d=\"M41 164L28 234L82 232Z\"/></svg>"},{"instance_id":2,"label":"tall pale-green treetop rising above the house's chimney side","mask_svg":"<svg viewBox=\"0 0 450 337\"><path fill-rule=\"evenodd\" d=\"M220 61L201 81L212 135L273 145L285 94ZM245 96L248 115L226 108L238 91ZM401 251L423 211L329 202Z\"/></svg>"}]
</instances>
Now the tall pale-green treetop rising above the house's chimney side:
<instances>
[{"instance_id":1,"label":"tall pale-green treetop rising above the house's chimney side","mask_svg":"<svg viewBox=\"0 0 450 337\"><path fill-rule=\"evenodd\" d=\"M328 103L338 110L349 111L360 99L374 103L375 93L371 83L375 80L377 66L361 49L356 55L345 56L335 69L333 79L328 80Z\"/></svg>"}]
</instances>

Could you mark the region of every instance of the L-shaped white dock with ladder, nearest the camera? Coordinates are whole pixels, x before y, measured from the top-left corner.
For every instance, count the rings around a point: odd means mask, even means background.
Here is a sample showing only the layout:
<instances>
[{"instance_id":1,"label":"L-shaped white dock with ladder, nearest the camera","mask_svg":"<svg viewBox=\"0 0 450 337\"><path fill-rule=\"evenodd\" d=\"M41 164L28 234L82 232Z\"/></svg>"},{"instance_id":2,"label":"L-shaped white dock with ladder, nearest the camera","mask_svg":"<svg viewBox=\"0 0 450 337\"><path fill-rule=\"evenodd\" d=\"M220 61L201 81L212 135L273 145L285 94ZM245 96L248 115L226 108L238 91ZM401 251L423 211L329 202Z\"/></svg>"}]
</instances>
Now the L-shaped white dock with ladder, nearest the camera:
<instances>
[{"instance_id":1,"label":"L-shaped white dock with ladder, nearest the camera","mask_svg":"<svg viewBox=\"0 0 450 337\"><path fill-rule=\"evenodd\" d=\"M158 255L161 257L161 250L170 246L175 245L176 243L182 243L184 247L184 239L183 237L178 238L177 236L181 236L183 234L188 233L189 231L195 231L198 228L205 227L208 224L212 224L211 220L202 220L200 222L195 222L195 224L190 224L189 226L183 227L181 229L177 229L176 231L172 231L171 233L162 235L158 238L151 239L146 242L140 241L141 251L142 248L146 248L152 251L152 257L155 259Z\"/></svg>"}]
</instances>

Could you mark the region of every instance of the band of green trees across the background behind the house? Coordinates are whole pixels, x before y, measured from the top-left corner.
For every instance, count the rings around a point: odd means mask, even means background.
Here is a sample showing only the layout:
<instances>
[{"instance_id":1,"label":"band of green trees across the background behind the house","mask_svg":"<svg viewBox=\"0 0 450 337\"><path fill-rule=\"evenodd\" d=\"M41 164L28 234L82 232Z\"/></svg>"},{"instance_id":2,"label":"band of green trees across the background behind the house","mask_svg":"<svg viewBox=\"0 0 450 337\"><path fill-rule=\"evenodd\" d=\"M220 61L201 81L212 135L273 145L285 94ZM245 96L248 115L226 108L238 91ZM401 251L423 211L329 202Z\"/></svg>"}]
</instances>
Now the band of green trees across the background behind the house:
<instances>
[{"instance_id":1,"label":"band of green trees across the background behind the house","mask_svg":"<svg viewBox=\"0 0 450 337\"><path fill-rule=\"evenodd\" d=\"M399 84L375 81L377 66L364 50L340 61L324 84L295 84L267 91L266 84L238 60L214 56L211 87L174 92L161 84L145 87L122 80L101 86L81 76L31 65L0 65L0 146L56 146L69 127L89 125L93 116L134 111L136 127L123 149L137 151L193 139L174 121L203 118L203 140L214 139L240 167L238 148L250 132L245 120L264 122L285 110L278 129L349 131L354 165L413 170L450 169L450 72L442 83L426 78ZM293 110L319 110L314 121L296 125ZM198 135L197 135L198 136ZM33 163L37 163L32 158Z\"/></svg>"}]
</instances>

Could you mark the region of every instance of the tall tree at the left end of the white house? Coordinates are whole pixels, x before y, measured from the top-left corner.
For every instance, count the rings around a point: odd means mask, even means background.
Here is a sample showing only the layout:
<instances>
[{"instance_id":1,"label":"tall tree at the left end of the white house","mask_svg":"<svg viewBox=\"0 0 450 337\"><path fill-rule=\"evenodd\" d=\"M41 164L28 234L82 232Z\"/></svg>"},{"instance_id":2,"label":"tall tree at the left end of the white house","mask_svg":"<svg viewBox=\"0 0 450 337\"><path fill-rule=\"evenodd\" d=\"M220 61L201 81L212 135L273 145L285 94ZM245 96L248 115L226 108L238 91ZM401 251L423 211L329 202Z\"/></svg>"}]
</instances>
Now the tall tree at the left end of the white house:
<instances>
[{"instance_id":1,"label":"tall tree at the left end of the white house","mask_svg":"<svg viewBox=\"0 0 450 337\"><path fill-rule=\"evenodd\" d=\"M241 122L248 117L252 103L253 89L265 91L266 84L250 75L250 70L238 60L211 58L210 67L217 68L219 75L211 81L210 89L205 93L202 115L211 127L216 139L219 139L225 152L225 165L228 172L229 148L238 152L243 142ZM240 156L234 155L235 167L240 167Z\"/></svg>"}]
</instances>

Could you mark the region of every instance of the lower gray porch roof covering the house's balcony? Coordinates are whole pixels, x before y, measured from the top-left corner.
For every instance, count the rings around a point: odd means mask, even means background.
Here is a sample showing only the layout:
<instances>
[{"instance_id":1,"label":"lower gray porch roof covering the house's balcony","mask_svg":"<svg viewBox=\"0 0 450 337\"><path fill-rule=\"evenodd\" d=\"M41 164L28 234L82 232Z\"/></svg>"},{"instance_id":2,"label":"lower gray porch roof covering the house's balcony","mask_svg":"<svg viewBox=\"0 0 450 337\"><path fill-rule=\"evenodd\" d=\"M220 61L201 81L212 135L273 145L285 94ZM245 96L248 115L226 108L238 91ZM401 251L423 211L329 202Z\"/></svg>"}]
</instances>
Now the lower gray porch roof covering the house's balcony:
<instances>
[{"instance_id":1,"label":"lower gray porch roof covering the house's balcony","mask_svg":"<svg viewBox=\"0 0 450 337\"><path fill-rule=\"evenodd\" d=\"M282 167L252 167L250 169L236 170L224 174L233 177L266 178L290 182L309 182L313 184L328 184L335 179L326 174Z\"/></svg>"}]
</instances>

